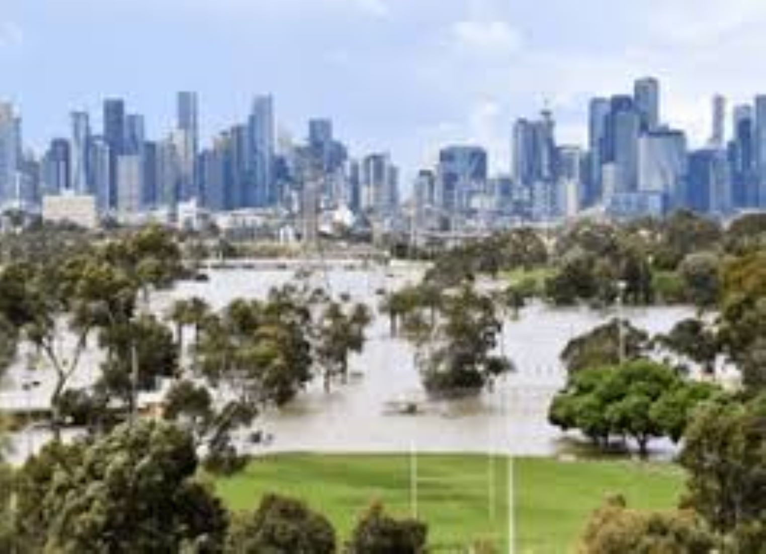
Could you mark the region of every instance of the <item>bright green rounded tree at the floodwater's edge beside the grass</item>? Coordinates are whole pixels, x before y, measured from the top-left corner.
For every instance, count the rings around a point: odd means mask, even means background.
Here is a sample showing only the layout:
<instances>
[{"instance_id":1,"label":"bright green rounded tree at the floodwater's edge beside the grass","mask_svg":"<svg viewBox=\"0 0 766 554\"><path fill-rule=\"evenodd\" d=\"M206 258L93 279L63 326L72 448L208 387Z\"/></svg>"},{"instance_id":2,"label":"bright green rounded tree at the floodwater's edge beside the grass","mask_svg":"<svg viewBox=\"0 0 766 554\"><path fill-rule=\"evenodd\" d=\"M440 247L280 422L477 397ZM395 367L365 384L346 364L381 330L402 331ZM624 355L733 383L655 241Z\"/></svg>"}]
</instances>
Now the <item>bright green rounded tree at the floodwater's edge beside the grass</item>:
<instances>
[{"instance_id":1,"label":"bright green rounded tree at the floodwater's edge beside the grass","mask_svg":"<svg viewBox=\"0 0 766 554\"><path fill-rule=\"evenodd\" d=\"M633 438L646 455L651 438L678 440L696 406L715 390L686 383L648 360L586 368L571 374L548 418L562 429L580 429L601 446L612 436Z\"/></svg>"}]
</instances>

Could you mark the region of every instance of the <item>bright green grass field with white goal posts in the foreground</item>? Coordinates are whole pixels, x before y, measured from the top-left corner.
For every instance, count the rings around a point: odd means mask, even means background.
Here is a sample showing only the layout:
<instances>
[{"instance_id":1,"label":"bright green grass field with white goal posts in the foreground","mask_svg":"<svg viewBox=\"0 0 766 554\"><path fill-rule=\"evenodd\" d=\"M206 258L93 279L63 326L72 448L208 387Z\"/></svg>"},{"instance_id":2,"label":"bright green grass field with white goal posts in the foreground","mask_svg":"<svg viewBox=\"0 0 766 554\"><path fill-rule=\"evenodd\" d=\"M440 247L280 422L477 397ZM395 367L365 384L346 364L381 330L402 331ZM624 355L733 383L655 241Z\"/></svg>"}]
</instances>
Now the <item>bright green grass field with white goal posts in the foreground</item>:
<instances>
[{"instance_id":1,"label":"bright green grass field with white goal posts in the foreground","mask_svg":"<svg viewBox=\"0 0 766 554\"><path fill-rule=\"evenodd\" d=\"M429 525L434 552L463 552L480 542L508 551L507 463L483 455L417 457L417 513ZM623 493L632 507L669 509L683 484L681 471L669 464L545 458L512 464L515 542L525 553L572 552L607 494ZM300 497L345 539L373 500L410 515L411 470L407 455L280 455L253 461L217 487L234 510L253 509L264 492Z\"/></svg>"}]
</instances>

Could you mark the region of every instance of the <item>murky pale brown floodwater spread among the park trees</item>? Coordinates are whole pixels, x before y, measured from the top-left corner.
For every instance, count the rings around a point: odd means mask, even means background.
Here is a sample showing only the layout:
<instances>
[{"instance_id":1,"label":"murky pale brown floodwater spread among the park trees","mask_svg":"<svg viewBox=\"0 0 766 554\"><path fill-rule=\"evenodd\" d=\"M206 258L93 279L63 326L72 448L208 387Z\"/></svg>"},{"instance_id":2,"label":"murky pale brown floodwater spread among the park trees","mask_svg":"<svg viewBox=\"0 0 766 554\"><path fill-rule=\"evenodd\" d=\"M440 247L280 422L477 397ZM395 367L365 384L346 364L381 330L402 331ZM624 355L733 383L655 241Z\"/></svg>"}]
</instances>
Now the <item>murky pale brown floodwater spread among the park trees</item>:
<instances>
[{"instance_id":1,"label":"murky pale brown floodwater spread among the park trees","mask_svg":"<svg viewBox=\"0 0 766 554\"><path fill-rule=\"evenodd\" d=\"M164 313L175 298L198 296L214 308L234 298L262 298L270 288L296 279L295 269L211 269L208 282L182 282L171 291L153 295L152 309ZM332 295L343 293L353 301L364 301L377 309L382 291L417 282L422 267L393 264L385 269L362 269L336 264L309 277L312 286L329 288ZM669 331L676 321L692 316L691 308L626 308L624 316L651 333ZM256 422L272 440L268 445L250 445L252 452L270 451L497 451L511 455L557 455L565 448L565 437L548 424L548 405L565 383L558 354L565 344L610 318L614 311L588 308L553 309L542 304L524 308L509 319L503 330L502 352L516 371L497 383L491 393L472 399L429 402L424 397L414 350L389 333L388 318L378 315L368 328L362 354L352 357L349 383L337 384L326 393L320 383L284 409L270 410ZM74 383L93 379L98 354L90 352ZM18 393L25 379L24 363L9 372L3 402L44 405L52 380L45 371L35 373L41 385L30 394ZM14 392L15 390L15 392ZM21 395L21 396L20 396ZM23 400L22 400L23 398ZM398 407L417 405L415 415ZM37 449L44 432L17 435L14 458L23 458L28 448ZM576 435L573 435L576 436ZM672 445L653 443L656 455L668 457Z\"/></svg>"}]
</instances>

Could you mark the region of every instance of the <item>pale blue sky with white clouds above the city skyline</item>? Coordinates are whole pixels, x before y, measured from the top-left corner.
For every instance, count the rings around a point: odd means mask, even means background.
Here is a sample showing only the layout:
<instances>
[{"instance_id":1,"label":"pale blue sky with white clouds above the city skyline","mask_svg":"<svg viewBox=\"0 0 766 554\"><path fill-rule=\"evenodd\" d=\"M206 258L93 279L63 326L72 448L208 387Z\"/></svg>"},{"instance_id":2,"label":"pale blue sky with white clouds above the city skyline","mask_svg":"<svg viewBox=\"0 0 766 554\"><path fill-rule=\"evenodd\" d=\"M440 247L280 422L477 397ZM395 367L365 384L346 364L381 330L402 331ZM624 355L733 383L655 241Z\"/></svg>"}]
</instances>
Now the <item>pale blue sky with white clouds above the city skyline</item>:
<instances>
[{"instance_id":1,"label":"pale blue sky with white clouds above the city skyline","mask_svg":"<svg viewBox=\"0 0 766 554\"><path fill-rule=\"evenodd\" d=\"M660 79L662 117L710 134L711 98L766 92L764 0L0 0L0 99L42 148L106 96L146 114L200 96L203 144L273 93L280 135L332 118L352 155L408 178L440 146L476 143L506 171L512 121L548 103L560 143L586 140L591 96Z\"/></svg>"}]
</instances>

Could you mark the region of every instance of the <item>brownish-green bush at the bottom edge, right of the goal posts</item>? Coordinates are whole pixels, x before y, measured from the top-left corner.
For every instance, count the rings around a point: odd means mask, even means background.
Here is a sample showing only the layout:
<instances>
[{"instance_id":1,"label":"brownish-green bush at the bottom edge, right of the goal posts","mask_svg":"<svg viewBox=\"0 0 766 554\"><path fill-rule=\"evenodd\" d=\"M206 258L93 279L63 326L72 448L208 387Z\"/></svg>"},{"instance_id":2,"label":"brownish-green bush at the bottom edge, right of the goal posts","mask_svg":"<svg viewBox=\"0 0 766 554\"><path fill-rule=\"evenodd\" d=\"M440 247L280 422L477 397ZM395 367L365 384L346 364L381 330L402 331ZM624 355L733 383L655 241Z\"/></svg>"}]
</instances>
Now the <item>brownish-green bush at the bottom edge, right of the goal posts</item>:
<instances>
[{"instance_id":1,"label":"brownish-green bush at the bottom edge, right of the goal posts","mask_svg":"<svg viewBox=\"0 0 766 554\"><path fill-rule=\"evenodd\" d=\"M580 551L588 554L710 554L715 537L695 513L641 512L607 503L588 521Z\"/></svg>"}]
</instances>

